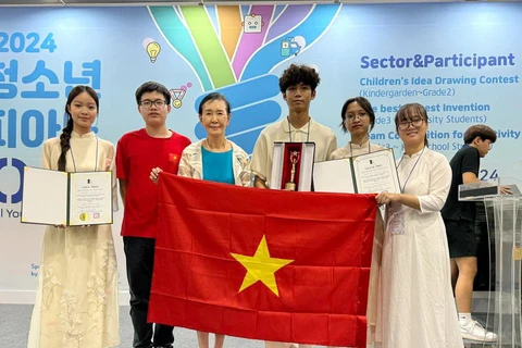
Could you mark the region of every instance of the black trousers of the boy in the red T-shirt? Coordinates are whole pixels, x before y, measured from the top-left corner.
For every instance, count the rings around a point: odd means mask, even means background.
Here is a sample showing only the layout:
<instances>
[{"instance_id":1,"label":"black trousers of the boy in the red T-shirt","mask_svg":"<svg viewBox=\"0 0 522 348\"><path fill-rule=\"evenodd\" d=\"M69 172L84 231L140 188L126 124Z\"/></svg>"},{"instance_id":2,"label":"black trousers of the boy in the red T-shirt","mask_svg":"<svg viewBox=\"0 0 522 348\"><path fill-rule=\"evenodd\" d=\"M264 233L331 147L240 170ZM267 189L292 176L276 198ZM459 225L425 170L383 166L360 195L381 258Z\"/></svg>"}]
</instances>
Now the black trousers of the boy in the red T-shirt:
<instances>
[{"instance_id":1,"label":"black trousers of the boy in the red T-shirt","mask_svg":"<svg viewBox=\"0 0 522 348\"><path fill-rule=\"evenodd\" d=\"M174 327L147 323L156 240L152 238L123 237L123 245L130 289L130 319L134 326L133 347L171 347L174 343Z\"/></svg>"}]
</instances>

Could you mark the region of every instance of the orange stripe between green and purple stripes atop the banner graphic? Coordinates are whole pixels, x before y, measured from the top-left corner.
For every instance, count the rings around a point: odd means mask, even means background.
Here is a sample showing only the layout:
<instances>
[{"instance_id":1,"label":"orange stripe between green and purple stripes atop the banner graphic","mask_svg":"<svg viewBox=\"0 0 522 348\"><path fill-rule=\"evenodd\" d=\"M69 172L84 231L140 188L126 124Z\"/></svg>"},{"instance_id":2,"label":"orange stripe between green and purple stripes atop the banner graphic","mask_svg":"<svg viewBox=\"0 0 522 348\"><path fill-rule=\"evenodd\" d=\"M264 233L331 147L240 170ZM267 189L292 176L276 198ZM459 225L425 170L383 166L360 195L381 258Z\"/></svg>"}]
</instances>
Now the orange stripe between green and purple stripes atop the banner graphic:
<instances>
[{"instance_id":1,"label":"orange stripe between green and purple stripes atop the banner graphic","mask_svg":"<svg viewBox=\"0 0 522 348\"><path fill-rule=\"evenodd\" d=\"M221 42L223 42L226 55L232 61L243 32L243 26L239 25L241 11L239 7L231 5L217 5L216 10L221 28Z\"/></svg>"}]
</instances>

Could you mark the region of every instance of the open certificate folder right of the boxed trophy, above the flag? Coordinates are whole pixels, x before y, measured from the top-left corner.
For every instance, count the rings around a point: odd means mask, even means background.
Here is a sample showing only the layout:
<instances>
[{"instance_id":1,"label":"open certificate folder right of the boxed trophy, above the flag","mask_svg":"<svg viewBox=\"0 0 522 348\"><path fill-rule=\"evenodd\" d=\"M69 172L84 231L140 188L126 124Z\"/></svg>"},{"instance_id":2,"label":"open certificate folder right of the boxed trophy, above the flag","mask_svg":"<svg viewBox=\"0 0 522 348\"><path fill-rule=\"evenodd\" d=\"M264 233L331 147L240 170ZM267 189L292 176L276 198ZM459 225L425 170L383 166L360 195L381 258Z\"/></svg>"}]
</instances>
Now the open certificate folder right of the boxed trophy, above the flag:
<instances>
[{"instance_id":1,"label":"open certificate folder right of the boxed trophy, above the flag","mask_svg":"<svg viewBox=\"0 0 522 348\"><path fill-rule=\"evenodd\" d=\"M393 149L314 164L315 191L345 194L400 194Z\"/></svg>"}]
</instances>

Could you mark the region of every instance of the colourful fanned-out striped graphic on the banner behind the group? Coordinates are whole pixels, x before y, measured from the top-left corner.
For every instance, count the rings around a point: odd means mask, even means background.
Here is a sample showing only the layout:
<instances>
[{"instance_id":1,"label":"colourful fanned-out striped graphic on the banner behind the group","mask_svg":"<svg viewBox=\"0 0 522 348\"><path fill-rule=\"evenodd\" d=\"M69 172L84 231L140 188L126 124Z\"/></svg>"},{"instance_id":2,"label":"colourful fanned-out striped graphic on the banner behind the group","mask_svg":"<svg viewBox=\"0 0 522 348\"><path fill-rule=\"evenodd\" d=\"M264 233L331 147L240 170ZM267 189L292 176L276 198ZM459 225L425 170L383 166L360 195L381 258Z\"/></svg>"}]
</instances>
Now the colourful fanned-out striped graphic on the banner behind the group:
<instances>
[{"instance_id":1,"label":"colourful fanned-out striped graphic on the banner behind the group","mask_svg":"<svg viewBox=\"0 0 522 348\"><path fill-rule=\"evenodd\" d=\"M202 90L226 96L234 115L226 136L251 153L261 130L282 113L279 100L274 100L278 77L271 72L318 41L340 8L175 5L149 7L149 12L169 46L190 64ZM283 54L286 38L289 51ZM204 95L197 98L196 111ZM199 123L195 134L200 139L207 136Z\"/></svg>"}]
</instances>

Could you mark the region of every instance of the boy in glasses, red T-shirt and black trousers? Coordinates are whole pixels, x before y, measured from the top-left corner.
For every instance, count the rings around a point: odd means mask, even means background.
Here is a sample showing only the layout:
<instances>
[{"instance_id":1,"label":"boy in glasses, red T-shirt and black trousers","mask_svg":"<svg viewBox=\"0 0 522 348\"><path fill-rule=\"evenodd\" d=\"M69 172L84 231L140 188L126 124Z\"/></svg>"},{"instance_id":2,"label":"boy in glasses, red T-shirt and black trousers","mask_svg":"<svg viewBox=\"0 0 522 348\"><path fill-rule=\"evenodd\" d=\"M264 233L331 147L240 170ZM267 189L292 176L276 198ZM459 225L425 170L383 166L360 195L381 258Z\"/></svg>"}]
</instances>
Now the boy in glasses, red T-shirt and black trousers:
<instances>
[{"instance_id":1,"label":"boy in glasses, red T-shirt and black trousers","mask_svg":"<svg viewBox=\"0 0 522 348\"><path fill-rule=\"evenodd\" d=\"M147 323L156 243L158 187L153 167L177 174L179 158L190 140L165 125L171 95L165 86L147 82L136 90L145 128L125 134L117 142L116 172L124 204L122 236L130 290L135 348L165 347L174 343L173 327ZM153 333L152 333L153 332Z\"/></svg>"}]
</instances>

